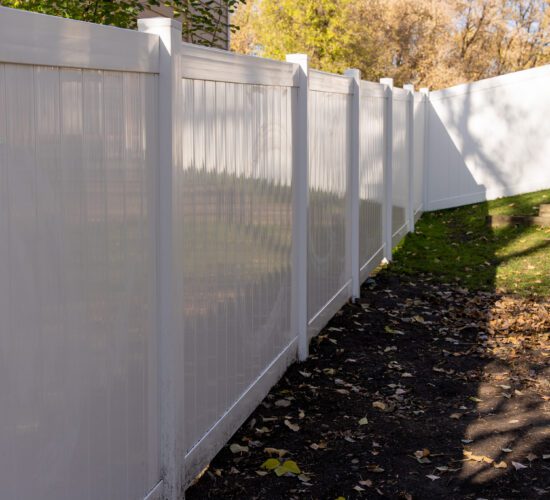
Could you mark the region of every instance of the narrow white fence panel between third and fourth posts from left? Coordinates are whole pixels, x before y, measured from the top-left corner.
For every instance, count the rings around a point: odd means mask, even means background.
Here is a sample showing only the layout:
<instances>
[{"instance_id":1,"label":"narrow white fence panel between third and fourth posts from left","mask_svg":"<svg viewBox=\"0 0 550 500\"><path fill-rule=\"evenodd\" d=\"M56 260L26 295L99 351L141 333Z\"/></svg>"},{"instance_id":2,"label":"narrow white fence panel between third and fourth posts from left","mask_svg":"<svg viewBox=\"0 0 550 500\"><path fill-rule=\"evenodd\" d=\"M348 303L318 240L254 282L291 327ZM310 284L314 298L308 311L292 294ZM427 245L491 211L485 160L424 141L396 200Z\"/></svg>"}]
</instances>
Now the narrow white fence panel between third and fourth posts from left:
<instances>
[{"instance_id":1,"label":"narrow white fence panel between third and fourth posts from left","mask_svg":"<svg viewBox=\"0 0 550 500\"><path fill-rule=\"evenodd\" d=\"M361 281L384 255L384 86L361 82L359 261Z\"/></svg>"}]
</instances>

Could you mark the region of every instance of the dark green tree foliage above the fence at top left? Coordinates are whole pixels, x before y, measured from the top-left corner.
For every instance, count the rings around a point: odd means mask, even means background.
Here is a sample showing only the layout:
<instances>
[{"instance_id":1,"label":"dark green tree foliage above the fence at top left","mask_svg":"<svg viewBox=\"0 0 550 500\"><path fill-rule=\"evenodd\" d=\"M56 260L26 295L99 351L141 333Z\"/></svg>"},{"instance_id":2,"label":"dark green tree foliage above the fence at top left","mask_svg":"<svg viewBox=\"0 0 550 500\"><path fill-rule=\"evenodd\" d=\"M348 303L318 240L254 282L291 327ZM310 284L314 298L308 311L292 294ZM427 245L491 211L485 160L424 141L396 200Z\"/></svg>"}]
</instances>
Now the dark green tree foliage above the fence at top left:
<instances>
[{"instance_id":1,"label":"dark green tree foliage above the fence at top left","mask_svg":"<svg viewBox=\"0 0 550 500\"><path fill-rule=\"evenodd\" d=\"M120 28L135 28L137 17L147 7L169 7L182 21L185 41L216 45L226 36L231 15L244 0L0 0L0 4L16 9L67 17Z\"/></svg>"}]
</instances>

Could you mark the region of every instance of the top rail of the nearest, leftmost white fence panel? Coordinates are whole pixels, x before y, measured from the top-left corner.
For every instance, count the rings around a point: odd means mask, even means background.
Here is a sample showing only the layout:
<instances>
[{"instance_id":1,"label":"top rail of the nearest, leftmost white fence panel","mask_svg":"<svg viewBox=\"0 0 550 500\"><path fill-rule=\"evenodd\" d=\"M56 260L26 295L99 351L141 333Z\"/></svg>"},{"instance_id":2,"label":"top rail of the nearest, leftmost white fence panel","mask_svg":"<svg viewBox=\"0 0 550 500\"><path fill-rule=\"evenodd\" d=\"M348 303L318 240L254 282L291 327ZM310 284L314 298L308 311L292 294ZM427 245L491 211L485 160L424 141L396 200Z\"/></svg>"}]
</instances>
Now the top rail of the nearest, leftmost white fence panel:
<instances>
[{"instance_id":1,"label":"top rail of the nearest, leftmost white fence panel","mask_svg":"<svg viewBox=\"0 0 550 500\"><path fill-rule=\"evenodd\" d=\"M158 73L159 38L0 7L0 62Z\"/></svg>"}]
</instances>

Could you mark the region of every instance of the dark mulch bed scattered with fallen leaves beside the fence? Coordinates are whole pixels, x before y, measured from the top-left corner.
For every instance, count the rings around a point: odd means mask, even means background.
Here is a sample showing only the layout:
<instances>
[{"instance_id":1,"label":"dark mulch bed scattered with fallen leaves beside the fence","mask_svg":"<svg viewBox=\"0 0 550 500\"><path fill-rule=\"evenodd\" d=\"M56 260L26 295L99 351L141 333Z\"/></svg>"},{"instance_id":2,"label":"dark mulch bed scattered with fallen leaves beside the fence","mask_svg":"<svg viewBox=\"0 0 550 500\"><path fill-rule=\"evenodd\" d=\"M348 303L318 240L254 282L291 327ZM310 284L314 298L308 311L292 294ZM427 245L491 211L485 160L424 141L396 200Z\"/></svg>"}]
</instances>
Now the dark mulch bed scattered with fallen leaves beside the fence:
<instances>
[{"instance_id":1,"label":"dark mulch bed scattered with fallen leaves beside the fence","mask_svg":"<svg viewBox=\"0 0 550 500\"><path fill-rule=\"evenodd\" d=\"M187 498L550 498L549 311L383 271Z\"/></svg>"}]
</instances>

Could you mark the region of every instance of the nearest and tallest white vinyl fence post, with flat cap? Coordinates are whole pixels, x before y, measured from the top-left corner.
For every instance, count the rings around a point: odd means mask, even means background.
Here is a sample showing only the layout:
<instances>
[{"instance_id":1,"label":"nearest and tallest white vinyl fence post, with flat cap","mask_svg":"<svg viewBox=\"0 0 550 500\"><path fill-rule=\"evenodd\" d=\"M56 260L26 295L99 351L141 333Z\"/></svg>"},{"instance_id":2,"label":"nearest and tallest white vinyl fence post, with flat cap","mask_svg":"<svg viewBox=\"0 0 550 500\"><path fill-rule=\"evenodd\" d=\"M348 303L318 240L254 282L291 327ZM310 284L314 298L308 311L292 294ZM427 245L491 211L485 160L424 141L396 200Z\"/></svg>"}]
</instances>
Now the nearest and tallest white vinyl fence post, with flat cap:
<instances>
[{"instance_id":1,"label":"nearest and tallest white vinyl fence post, with flat cap","mask_svg":"<svg viewBox=\"0 0 550 500\"><path fill-rule=\"evenodd\" d=\"M183 331L173 315L172 185L177 162L177 114L181 113L179 52L181 23L167 18L140 19L139 31L159 37L157 172L157 328L159 358L159 426L162 498L184 496Z\"/></svg>"}]
</instances>

